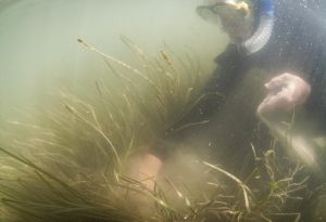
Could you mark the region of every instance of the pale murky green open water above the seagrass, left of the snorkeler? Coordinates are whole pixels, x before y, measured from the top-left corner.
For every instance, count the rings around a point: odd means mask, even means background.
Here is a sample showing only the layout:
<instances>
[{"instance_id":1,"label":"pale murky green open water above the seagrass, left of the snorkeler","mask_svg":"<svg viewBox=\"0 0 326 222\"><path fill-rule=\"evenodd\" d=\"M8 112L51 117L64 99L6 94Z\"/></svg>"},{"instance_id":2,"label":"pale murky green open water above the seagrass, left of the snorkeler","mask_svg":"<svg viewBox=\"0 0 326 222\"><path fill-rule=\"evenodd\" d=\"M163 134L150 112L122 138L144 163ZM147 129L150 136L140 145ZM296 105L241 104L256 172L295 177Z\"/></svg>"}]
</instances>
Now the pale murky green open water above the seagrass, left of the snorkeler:
<instances>
[{"instance_id":1,"label":"pale murky green open water above the seagrass, left of the snorkeler","mask_svg":"<svg viewBox=\"0 0 326 222\"><path fill-rule=\"evenodd\" d=\"M110 55L135 63L118 36L147 53L164 43L176 52L191 47L208 64L225 47L220 31L196 14L198 1L2 1L0 12L0 119L12 108L36 103L57 80L74 87L75 78L103 71L97 56L77 38ZM59 82L60 84L60 82Z\"/></svg>"}]
</instances>

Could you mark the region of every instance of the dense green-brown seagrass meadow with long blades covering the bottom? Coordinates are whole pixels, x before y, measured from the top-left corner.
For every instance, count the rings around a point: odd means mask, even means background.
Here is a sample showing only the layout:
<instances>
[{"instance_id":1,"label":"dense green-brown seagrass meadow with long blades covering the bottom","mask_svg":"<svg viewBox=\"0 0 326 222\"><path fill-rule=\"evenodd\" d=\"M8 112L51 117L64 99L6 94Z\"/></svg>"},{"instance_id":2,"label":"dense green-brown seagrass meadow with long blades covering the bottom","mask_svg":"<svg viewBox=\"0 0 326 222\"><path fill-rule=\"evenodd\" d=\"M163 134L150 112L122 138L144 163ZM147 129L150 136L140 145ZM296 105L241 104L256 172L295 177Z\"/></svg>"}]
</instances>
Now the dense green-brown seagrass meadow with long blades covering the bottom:
<instances>
[{"instance_id":1,"label":"dense green-brown seagrass meadow with long blades covering the bottom","mask_svg":"<svg viewBox=\"0 0 326 222\"><path fill-rule=\"evenodd\" d=\"M205 175L200 190L167 175L149 191L128 175L146 144L209 96L200 89L210 71L189 51L165 45L149 56L121 40L136 67L78 39L105 64L105 75L84 82L84 94L53 91L54 103L37 110L37 121L9 122L17 134L0 147L1 221L300 221L304 166L284 157L276 140L252 146L255 165L244 179L197 159Z\"/></svg>"}]
</instances>

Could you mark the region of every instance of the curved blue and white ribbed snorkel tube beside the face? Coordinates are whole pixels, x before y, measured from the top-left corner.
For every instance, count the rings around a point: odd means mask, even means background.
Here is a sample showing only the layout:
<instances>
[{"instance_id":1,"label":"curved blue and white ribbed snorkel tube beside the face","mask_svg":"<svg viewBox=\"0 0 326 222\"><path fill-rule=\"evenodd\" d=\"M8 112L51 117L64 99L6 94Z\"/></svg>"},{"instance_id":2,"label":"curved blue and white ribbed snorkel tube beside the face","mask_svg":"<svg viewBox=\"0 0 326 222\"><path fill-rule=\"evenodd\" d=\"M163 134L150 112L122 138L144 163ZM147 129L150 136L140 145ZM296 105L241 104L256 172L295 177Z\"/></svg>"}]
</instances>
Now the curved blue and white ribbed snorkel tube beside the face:
<instances>
[{"instance_id":1,"label":"curved blue and white ribbed snorkel tube beside the face","mask_svg":"<svg viewBox=\"0 0 326 222\"><path fill-rule=\"evenodd\" d=\"M241 43L247 54L260 51L269 40L274 27L274 0L261 0L260 22L254 34Z\"/></svg>"}]
</instances>

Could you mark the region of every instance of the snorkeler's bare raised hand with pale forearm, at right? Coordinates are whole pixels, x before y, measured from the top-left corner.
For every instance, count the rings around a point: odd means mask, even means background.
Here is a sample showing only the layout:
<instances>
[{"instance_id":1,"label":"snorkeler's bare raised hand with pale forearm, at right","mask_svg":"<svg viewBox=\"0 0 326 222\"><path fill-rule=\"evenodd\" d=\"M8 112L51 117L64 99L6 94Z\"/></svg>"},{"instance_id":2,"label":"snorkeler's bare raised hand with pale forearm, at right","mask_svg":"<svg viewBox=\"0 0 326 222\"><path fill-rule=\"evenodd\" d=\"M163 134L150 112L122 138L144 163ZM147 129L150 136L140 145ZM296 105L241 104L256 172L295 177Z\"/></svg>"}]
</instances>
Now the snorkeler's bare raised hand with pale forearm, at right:
<instances>
[{"instance_id":1,"label":"snorkeler's bare raised hand with pale forearm, at right","mask_svg":"<svg viewBox=\"0 0 326 222\"><path fill-rule=\"evenodd\" d=\"M308 119L306 121L301 118L300 122L296 122L296 125L290 122L290 128L283 123L288 118L290 118L289 121L293 121L291 116L294 115L294 108L305 105L311 96L311 84L300 76L285 73L269 80L265 88L268 93L258 107L258 117L284 144L291 156L301 159L312 170L318 171L313 129L309 129L314 123L311 122L313 120ZM274 119L273 114L278 116L279 112L293 114L290 117L283 115L281 119Z\"/></svg>"}]
</instances>

